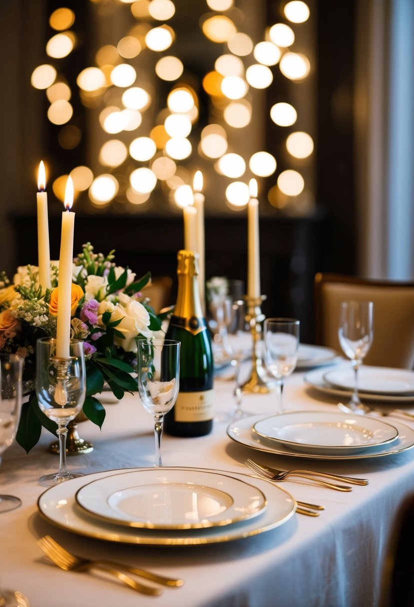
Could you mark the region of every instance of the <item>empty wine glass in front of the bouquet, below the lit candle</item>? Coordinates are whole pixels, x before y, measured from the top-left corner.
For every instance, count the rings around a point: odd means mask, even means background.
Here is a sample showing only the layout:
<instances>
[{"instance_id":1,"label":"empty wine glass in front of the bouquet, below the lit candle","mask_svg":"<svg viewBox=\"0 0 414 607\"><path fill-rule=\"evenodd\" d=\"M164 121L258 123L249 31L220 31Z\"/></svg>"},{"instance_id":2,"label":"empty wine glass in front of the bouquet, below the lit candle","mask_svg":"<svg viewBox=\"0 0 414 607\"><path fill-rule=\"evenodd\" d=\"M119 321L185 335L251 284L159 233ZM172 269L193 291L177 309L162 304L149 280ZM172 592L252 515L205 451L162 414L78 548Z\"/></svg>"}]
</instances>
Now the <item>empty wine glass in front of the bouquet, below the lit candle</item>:
<instances>
[{"instance_id":1,"label":"empty wine glass in front of the bouquet, below the lit candle","mask_svg":"<svg viewBox=\"0 0 414 607\"><path fill-rule=\"evenodd\" d=\"M71 339L69 356L56 356L56 339L42 337L36 342L36 396L41 411L58 424L59 472L39 478L45 487L83 476L69 472L66 464L67 424L80 413L86 396L83 341Z\"/></svg>"}]
</instances>

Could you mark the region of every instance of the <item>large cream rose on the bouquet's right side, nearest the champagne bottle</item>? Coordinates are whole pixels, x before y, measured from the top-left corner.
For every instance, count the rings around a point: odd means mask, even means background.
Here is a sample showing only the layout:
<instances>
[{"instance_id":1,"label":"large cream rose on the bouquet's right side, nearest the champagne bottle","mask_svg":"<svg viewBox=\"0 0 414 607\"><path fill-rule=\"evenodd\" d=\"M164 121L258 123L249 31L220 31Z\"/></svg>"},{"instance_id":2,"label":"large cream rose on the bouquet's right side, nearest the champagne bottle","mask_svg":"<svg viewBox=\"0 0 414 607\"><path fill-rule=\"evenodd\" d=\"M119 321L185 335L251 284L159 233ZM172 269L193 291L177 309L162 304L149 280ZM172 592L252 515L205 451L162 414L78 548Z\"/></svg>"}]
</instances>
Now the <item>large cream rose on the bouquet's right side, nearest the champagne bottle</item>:
<instances>
[{"instance_id":1,"label":"large cream rose on the bouquet's right side, nearest the champagne bottle","mask_svg":"<svg viewBox=\"0 0 414 607\"><path fill-rule=\"evenodd\" d=\"M152 331L149 327L149 314L146 308L140 302L135 299L122 294L122 302L114 305L112 302L103 301L98 308L98 325L104 327L102 322L102 314L104 312L112 313L110 322L114 320L121 320L120 324L117 325L117 331L120 331L124 335L124 339L115 337L115 345L124 348L127 352L132 352L137 349L135 344L135 337L137 335L143 335L144 337L151 337Z\"/></svg>"}]
</instances>

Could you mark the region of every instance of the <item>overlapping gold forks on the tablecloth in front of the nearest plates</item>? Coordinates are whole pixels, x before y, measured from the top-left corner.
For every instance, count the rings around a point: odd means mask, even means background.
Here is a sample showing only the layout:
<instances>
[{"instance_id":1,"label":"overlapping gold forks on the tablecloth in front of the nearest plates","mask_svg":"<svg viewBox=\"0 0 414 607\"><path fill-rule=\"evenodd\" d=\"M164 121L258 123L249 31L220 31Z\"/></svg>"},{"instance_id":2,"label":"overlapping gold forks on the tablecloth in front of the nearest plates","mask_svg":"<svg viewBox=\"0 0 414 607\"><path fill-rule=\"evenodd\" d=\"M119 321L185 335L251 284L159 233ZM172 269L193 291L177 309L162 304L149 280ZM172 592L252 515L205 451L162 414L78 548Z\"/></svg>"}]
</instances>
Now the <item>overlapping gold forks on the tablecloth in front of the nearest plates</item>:
<instances>
[{"instance_id":1,"label":"overlapping gold forks on the tablecloth in front of the nearest plates","mask_svg":"<svg viewBox=\"0 0 414 607\"><path fill-rule=\"evenodd\" d=\"M143 594L160 595L163 594L161 588L154 588L147 586L143 583L137 582L132 579L125 572L130 574L138 575L138 577L144 577L152 582L163 584L174 588L182 586L184 580L176 580L163 575L157 575L145 569L138 569L135 567L129 567L127 565L120 565L111 561L105 560L88 560L86 558L76 557L71 552L68 552L63 546L53 540L50 535L45 535L38 540L38 546L42 549L45 554L52 560L58 567L65 569L66 571L86 571L87 569L101 569L111 575L114 575L118 580L130 586L137 592L143 592Z\"/></svg>"}]
</instances>

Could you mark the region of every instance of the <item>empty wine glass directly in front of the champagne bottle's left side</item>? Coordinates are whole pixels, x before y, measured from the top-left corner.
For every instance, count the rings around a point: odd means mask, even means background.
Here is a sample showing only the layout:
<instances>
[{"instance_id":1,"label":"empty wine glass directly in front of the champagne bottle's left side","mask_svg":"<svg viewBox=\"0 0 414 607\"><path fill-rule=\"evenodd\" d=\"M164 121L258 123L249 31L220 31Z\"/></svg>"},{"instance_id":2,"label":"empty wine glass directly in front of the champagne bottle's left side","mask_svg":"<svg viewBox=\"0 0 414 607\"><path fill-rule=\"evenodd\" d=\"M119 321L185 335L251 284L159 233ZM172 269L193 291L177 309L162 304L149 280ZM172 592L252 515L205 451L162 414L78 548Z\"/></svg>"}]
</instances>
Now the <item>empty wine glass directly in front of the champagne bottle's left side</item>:
<instances>
[{"instance_id":1,"label":"empty wine glass directly in front of the champagne bottle's left side","mask_svg":"<svg viewBox=\"0 0 414 607\"><path fill-rule=\"evenodd\" d=\"M174 406L180 387L180 345L174 339L137 339L138 390L144 409L155 422L155 467L163 465L163 419Z\"/></svg>"}]
</instances>

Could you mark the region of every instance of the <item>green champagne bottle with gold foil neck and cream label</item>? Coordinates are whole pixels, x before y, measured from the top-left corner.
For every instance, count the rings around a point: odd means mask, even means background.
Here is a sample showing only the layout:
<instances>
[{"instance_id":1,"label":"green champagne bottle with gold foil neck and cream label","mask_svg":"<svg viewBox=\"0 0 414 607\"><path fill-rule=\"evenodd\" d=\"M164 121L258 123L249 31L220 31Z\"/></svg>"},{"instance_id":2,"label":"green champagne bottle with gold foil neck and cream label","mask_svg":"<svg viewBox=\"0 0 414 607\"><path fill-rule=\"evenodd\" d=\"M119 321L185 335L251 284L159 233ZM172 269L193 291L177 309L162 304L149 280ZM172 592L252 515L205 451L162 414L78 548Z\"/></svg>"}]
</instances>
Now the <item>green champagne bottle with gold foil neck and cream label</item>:
<instances>
[{"instance_id":1,"label":"green champagne bottle with gold foil neck and cream label","mask_svg":"<svg viewBox=\"0 0 414 607\"><path fill-rule=\"evenodd\" d=\"M165 336L181 342L180 391L164 418L165 432L174 436L203 436L212 429L213 359L197 285L198 257L178 251L177 303Z\"/></svg>"}]
</instances>

